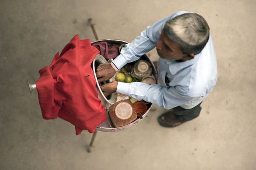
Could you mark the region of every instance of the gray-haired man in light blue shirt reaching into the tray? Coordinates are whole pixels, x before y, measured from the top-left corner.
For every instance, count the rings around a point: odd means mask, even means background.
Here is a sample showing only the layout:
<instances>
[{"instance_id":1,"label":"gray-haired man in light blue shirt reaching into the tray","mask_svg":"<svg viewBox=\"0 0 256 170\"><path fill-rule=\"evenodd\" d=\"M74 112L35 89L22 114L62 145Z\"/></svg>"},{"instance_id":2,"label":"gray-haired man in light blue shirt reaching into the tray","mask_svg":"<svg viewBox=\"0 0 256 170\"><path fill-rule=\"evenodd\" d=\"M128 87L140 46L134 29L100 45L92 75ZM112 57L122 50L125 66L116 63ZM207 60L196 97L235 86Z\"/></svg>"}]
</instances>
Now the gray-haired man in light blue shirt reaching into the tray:
<instances>
[{"instance_id":1,"label":"gray-haired man in light blue shirt reaching into the tray","mask_svg":"<svg viewBox=\"0 0 256 170\"><path fill-rule=\"evenodd\" d=\"M108 80L154 47L160 57L157 67L160 85L114 81L101 88L106 96L117 91L170 109L158 122L164 127L175 127L199 116L200 104L217 80L213 42L202 16L181 11L147 27L111 64L98 67L97 78L99 82Z\"/></svg>"}]
</instances>

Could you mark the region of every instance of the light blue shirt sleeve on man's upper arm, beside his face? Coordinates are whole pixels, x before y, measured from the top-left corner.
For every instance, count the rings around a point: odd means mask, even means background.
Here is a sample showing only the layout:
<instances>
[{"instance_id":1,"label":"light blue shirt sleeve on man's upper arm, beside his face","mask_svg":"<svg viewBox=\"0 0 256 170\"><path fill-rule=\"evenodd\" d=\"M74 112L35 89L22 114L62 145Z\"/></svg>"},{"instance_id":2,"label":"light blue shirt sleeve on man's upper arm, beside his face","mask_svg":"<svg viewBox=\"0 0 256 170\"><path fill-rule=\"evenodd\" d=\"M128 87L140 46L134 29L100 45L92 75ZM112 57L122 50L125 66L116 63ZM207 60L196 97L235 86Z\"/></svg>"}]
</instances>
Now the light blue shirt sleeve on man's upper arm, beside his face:
<instances>
[{"instance_id":1,"label":"light blue shirt sleeve on man's upper arm, beside his face","mask_svg":"<svg viewBox=\"0 0 256 170\"><path fill-rule=\"evenodd\" d=\"M141 32L131 43L128 43L124 47L124 52L117 56L113 63L121 69L127 63L138 60L142 55L152 50L156 42L159 40L160 34L165 26L165 23L173 17L181 14L188 13L186 11L177 12L169 17L165 17L155 24L148 26L146 30Z\"/></svg>"}]
</instances>

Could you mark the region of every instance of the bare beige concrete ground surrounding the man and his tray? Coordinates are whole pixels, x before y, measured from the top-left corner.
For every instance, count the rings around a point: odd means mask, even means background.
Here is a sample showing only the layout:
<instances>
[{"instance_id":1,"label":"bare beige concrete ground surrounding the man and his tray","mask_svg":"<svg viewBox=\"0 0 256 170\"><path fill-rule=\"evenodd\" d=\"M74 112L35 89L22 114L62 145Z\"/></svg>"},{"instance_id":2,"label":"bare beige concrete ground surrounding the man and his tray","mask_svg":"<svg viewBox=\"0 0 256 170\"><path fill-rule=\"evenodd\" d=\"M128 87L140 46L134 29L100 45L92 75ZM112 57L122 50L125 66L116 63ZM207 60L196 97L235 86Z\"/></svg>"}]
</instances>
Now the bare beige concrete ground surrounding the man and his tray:
<instances>
[{"instance_id":1,"label":"bare beige concrete ground surrounding the man and his tray","mask_svg":"<svg viewBox=\"0 0 256 170\"><path fill-rule=\"evenodd\" d=\"M75 35L132 41L176 11L206 18L217 54L218 81L199 118L168 129L158 108L116 133L75 135L62 119L44 120L39 69ZM0 0L1 170L256 170L255 0ZM151 59L157 60L155 51Z\"/></svg>"}]
</instances>

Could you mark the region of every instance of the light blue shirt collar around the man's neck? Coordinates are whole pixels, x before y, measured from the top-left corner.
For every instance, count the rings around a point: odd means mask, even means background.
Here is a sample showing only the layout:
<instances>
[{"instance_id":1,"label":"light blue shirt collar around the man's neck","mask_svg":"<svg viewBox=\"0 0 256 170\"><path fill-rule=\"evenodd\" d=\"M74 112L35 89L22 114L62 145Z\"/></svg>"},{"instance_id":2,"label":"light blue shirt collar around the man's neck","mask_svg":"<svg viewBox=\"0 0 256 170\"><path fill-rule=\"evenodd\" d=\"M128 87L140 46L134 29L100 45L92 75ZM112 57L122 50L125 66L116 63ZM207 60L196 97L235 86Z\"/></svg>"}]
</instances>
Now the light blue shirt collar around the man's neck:
<instances>
[{"instance_id":1,"label":"light blue shirt collar around the man's neck","mask_svg":"<svg viewBox=\"0 0 256 170\"><path fill-rule=\"evenodd\" d=\"M200 54L197 54L194 56L193 59L191 60L187 60L187 61L183 61L183 62L177 62L177 61L170 61L170 60L165 60L165 62L169 65L169 69L172 75L176 74L179 70L183 69L183 68L187 68L191 65L193 65L194 63L196 63L200 57Z\"/></svg>"}]
</instances>

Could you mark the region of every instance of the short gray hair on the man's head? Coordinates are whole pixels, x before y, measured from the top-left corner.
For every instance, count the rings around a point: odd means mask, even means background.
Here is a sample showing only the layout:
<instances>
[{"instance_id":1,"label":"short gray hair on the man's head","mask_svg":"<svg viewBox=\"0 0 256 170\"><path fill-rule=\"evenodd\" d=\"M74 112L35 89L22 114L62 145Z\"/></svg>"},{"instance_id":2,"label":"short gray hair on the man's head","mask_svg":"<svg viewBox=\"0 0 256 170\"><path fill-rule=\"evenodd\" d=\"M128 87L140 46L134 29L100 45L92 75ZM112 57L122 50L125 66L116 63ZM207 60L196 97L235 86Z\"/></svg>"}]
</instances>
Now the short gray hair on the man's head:
<instances>
[{"instance_id":1,"label":"short gray hair on the man's head","mask_svg":"<svg viewBox=\"0 0 256 170\"><path fill-rule=\"evenodd\" d=\"M171 41L180 45L186 54L200 53L209 39L210 28L206 20L195 13L182 14L167 21L164 32Z\"/></svg>"}]
</instances>

